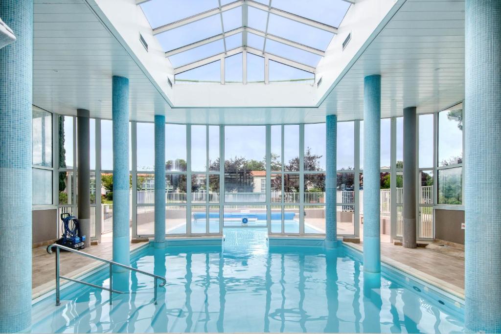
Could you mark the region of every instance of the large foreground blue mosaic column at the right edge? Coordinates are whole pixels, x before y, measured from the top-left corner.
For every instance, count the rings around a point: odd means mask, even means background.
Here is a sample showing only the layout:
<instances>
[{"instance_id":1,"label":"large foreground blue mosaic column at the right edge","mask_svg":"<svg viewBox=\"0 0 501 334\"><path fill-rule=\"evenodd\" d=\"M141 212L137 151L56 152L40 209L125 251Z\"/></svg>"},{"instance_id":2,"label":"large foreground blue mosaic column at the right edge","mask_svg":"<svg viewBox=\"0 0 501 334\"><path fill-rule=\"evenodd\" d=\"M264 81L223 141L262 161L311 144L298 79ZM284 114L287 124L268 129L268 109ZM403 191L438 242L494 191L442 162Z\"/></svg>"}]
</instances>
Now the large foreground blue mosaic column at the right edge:
<instances>
[{"instance_id":1,"label":"large foreground blue mosaic column at the right edge","mask_svg":"<svg viewBox=\"0 0 501 334\"><path fill-rule=\"evenodd\" d=\"M466 0L465 326L501 332L501 2Z\"/></svg>"}]
</instances>

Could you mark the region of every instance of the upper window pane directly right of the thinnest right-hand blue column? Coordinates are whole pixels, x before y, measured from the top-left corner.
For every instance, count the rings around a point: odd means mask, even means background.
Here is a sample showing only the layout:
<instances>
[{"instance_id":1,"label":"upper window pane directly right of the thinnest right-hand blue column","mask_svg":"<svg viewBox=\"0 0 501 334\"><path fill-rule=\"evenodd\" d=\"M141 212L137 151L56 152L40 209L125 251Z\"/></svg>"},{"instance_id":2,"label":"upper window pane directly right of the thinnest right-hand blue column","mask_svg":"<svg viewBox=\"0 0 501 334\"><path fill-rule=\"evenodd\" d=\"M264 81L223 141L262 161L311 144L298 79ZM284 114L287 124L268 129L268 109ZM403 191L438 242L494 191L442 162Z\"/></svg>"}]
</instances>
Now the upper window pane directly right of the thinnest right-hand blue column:
<instances>
[{"instance_id":1,"label":"upper window pane directly right of the thinnest right-hand blue column","mask_svg":"<svg viewBox=\"0 0 501 334\"><path fill-rule=\"evenodd\" d=\"M355 122L338 122L336 138L336 169L353 170L355 167ZM363 151L363 146L360 151Z\"/></svg>"}]
</instances>

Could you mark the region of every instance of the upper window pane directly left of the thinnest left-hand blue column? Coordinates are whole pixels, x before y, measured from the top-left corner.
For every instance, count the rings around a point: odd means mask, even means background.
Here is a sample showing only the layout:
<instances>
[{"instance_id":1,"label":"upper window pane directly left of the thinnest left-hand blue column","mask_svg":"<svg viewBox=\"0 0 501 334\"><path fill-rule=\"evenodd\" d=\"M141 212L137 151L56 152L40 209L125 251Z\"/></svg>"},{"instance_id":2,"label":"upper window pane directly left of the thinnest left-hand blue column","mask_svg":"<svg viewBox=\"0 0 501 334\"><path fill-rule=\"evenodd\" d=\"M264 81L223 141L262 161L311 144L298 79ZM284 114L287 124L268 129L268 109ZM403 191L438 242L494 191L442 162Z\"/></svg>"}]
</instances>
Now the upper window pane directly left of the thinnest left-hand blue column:
<instances>
[{"instance_id":1,"label":"upper window pane directly left of the thinnest left-hand blue column","mask_svg":"<svg viewBox=\"0 0 501 334\"><path fill-rule=\"evenodd\" d=\"M155 170L155 125L137 123L137 170Z\"/></svg>"}]
</instances>

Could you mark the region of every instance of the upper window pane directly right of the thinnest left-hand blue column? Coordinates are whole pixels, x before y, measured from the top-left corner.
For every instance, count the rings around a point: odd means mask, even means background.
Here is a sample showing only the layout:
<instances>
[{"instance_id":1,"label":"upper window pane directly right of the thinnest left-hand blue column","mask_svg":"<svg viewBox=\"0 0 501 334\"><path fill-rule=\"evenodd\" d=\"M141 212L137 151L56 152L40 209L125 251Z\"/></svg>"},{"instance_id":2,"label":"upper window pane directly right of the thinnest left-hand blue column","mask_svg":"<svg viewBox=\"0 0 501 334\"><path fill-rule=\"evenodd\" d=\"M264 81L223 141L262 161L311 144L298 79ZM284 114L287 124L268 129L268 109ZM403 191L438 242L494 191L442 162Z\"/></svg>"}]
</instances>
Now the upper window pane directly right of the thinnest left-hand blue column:
<instances>
[{"instance_id":1,"label":"upper window pane directly right of the thinnest left-hand blue column","mask_svg":"<svg viewBox=\"0 0 501 334\"><path fill-rule=\"evenodd\" d=\"M166 171L186 171L186 125L166 125L165 161Z\"/></svg>"}]
</instances>

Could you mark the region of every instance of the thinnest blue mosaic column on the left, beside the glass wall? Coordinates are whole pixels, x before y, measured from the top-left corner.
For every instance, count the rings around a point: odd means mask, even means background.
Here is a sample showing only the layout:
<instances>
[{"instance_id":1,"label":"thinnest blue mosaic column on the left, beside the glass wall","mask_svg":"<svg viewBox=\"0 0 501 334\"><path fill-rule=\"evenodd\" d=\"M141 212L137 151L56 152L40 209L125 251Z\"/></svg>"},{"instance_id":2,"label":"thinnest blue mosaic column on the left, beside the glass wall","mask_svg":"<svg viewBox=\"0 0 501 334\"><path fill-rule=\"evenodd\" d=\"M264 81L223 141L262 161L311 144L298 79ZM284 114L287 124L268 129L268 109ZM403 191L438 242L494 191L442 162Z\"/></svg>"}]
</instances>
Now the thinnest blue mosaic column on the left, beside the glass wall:
<instances>
[{"instance_id":1,"label":"thinnest blue mosaic column on the left, beside the glass wall","mask_svg":"<svg viewBox=\"0 0 501 334\"><path fill-rule=\"evenodd\" d=\"M155 115L155 247L165 247L165 116Z\"/></svg>"}]
</instances>

